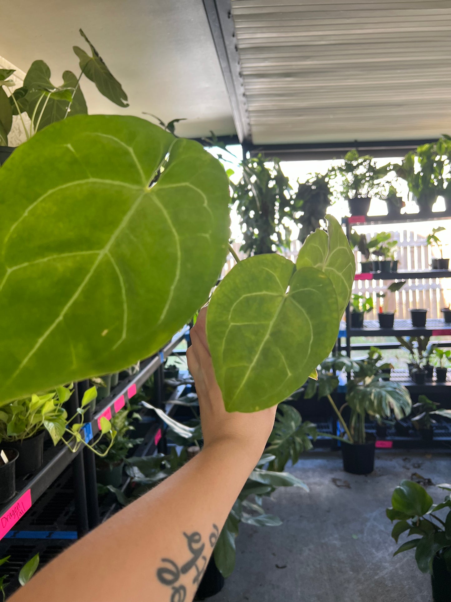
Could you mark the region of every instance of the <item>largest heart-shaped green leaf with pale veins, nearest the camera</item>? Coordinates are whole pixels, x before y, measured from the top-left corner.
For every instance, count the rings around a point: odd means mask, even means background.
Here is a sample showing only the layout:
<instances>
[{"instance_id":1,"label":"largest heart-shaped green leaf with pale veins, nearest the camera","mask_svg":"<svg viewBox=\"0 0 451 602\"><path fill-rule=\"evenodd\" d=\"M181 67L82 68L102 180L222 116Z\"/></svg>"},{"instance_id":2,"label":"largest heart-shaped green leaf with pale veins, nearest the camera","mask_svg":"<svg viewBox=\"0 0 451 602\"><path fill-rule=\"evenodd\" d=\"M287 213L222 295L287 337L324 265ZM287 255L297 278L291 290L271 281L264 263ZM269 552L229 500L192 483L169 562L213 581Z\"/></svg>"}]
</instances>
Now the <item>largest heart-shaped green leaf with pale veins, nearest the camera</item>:
<instances>
[{"instance_id":1,"label":"largest heart-shaped green leaf with pale veins, nearest the camera","mask_svg":"<svg viewBox=\"0 0 451 602\"><path fill-rule=\"evenodd\" d=\"M144 119L54 123L14 151L0 190L0 402L155 353L224 265L224 168Z\"/></svg>"}]
</instances>

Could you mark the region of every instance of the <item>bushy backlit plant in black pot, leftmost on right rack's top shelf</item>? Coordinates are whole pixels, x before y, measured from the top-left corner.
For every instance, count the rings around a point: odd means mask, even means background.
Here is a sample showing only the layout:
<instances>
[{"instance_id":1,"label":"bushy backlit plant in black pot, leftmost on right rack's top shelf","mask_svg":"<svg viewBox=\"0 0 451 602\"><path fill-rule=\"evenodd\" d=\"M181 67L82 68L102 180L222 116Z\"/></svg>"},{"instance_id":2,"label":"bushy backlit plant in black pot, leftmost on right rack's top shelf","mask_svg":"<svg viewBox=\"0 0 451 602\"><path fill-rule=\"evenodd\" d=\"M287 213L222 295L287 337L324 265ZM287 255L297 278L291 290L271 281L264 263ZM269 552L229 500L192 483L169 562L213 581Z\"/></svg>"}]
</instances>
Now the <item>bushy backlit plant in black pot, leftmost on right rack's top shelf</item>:
<instances>
[{"instance_id":1,"label":"bushy backlit plant in black pot, leftmost on right rack's top shelf","mask_svg":"<svg viewBox=\"0 0 451 602\"><path fill-rule=\"evenodd\" d=\"M379 171L372 157L359 157L357 150L346 153L343 163L329 170L336 194L348 201L351 216L367 215L370 195L379 188Z\"/></svg>"}]
</instances>

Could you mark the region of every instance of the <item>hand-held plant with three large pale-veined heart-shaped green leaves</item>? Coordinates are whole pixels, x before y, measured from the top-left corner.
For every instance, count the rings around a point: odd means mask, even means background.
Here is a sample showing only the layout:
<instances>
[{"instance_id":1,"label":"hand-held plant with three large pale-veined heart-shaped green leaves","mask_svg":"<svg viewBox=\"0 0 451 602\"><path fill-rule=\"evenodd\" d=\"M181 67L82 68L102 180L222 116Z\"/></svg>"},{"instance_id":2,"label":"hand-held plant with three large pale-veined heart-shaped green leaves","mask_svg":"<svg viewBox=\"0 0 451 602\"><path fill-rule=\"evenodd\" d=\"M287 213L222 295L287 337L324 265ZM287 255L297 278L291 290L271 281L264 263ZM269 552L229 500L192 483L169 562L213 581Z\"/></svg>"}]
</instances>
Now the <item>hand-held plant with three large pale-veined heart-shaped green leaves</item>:
<instances>
[{"instance_id":1,"label":"hand-held plant with three large pale-veined heart-shaped green leaves","mask_svg":"<svg viewBox=\"0 0 451 602\"><path fill-rule=\"evenodd\" d=\"M225 262L221 163L137 117L44 128L0 169L0 190L0 402L155 353ZM229 411L269 407L305 382L333 347L354 272L328 217L296 264L253 256L224 278L207 335Z\"/></svg>"}]
</instances>

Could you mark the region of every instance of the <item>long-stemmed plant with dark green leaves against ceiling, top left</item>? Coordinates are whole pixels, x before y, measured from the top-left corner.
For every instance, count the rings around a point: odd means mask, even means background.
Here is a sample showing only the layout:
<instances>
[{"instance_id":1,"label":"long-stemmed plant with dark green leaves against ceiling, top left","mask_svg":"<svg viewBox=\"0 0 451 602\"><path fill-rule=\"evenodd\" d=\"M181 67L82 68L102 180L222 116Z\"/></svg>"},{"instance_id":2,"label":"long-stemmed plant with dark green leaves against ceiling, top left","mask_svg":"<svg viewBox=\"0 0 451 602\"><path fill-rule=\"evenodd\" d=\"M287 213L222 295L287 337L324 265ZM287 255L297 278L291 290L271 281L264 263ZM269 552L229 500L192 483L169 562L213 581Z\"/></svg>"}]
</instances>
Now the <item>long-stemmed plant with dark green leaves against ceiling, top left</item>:
<instances>
[{"instance_id":1,"label":"long-stemmed plant with dark green leaves against ceiling, top left","mask_svg":"<svg viewBox=\"0 0 451 602\"><path fill-rule=\"evenodd\" d=\"M0 146L8 145L8 134L13 125L13 116L19 115L26 139L35 132L73 115L87 114L88 108L80 87L82 76L96 84L97 90L118 107L128 107L127 95L121 84L112 75L102 57L88 40L84 31L80 34L91 49L91 56L79 46L73 51L79 59L81 73L64 71L63 85L55 86L50 81L51 70L44 61L34 61L26 73L23 86L8 93L15 82L10 79L14 69L0 69ZM30 125L26 126L23 114L28 114Z\"/></svg>"}]
</instances>

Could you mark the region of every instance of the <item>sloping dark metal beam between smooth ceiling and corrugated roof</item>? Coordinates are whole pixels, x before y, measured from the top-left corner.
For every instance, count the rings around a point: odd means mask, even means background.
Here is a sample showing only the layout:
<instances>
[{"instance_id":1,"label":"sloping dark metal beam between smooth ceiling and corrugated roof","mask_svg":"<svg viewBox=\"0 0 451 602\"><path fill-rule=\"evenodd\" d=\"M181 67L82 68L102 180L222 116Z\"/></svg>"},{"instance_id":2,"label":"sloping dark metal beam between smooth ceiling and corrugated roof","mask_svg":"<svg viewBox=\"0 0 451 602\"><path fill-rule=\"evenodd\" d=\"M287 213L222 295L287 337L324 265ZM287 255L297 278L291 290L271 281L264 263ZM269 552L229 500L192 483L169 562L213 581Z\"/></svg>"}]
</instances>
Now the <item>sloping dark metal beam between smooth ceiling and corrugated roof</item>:
<instances>
[{"instance_id":1,"label":"sloping dark metal beam between smooth ceiling and corrugated roof","mask_svg":"<svg viewBox=\"0 0 451 602\"><path fill-rule=\"evenodd\" d=\"M230 0L203 0L225 87L229 95L233 121L241 142L251 140L251 125L240 73L235 25Z\"/></svg>"}]
</instances>

